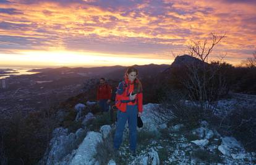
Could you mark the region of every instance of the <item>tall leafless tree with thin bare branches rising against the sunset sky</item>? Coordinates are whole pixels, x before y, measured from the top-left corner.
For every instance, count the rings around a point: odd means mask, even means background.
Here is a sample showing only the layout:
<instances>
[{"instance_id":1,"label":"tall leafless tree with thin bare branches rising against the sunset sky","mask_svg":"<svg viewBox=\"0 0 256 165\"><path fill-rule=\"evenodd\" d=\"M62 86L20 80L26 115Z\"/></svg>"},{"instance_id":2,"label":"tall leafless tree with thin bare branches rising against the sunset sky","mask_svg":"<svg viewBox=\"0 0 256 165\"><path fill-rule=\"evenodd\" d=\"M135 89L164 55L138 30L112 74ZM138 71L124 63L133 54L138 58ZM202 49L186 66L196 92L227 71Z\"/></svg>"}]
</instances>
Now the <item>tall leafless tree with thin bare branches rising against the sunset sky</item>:
<instances>
[{"instance_id":1,"label":"tall leafless tree with thin bare branches rising against the sunset sky","mask_svg":"<svg viewBox=\"0 0 256 165\"><path fill-rule=\"evenodd\" d=\"M176 66L172 75L186 89L190 101L197 101L201 111L213 111L215 101L227 95L229 83L226 78L231 70L231 65L223 62L223 57L219 61L208 63L209 56L216 44L224 38L224 35L217 36L211 33L212 40L194 41L188 46L189 62ZM174 67L175 68L175 67ZM182 70L177 72L177 70Z\"/></svg>"}]
</instances>

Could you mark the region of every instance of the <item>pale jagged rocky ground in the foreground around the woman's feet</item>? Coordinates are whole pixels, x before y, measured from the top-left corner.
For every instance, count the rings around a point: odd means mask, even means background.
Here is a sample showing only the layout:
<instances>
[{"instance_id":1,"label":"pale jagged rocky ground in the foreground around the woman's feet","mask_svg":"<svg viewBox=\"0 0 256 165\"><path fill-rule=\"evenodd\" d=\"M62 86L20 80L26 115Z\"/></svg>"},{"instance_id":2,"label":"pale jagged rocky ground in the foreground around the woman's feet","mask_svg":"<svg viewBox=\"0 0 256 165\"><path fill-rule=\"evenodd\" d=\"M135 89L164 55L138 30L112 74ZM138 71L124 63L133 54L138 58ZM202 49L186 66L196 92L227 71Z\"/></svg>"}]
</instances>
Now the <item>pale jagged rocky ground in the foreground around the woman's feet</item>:
<instances>
[{"instance_id":1,"label":"pale jagged rocky ground in the foreground around the woman's feet","mask_svg":"<svg viewBox=\"0 0 256 165\"><path fill-rule=\"evenodd\" d=\"M195 140L189 140L184 129L185 125L176 124L173 127L168 127L166 123L156 121L156 114L153 112L158 104L147 104L143 106L143 130L142 133L156 133L153 135L160 135L163 133L165 137L140 137L147 140L145 143L138 144L137 157L134 157L129 152L129 144L122 143L119 148L120 157L124 158L127 164L254 164L255 153L247 153L241 143L233 137L221 138L220 133L210 127L206 121L200 123L200 127L190 130L189 135L192 138L197 137ZM82 117L85 124L94 119L93 114L88 113L87 116ZM88 132L87 136L80 140L79 143L72 144L75 137L80 137L83 129L77 130L76 133L68 134L67 129L56 129L53 132L53 139L51 140L50 148L45 156L45 163L43 164L93 164L100 165L101 160L95 159L96 146L100 142L104 142L104 138L108 137L109 133L115 128L115 125L103 125L100 127L99 132ZM211 128L211 129L210 129ZM129 129L126 127L124 131L123 140L129 138ZM159 132L160 131L160 132ZM140 132L139 132L140 133ZM85 133L83 134L85 136ZM150 137L149 136L149 137ZM68 143L72 144L72 148ZM221 143L221 145L220 145ZM140 146L139 146L140 145ZM76 147L74 147L76 146ZM142 149L143 148L143 149ZM67 150L67 151L64 151ZM106 148L105 148L106 150ZM107 149L108 150L108 149ZM108 152L106 152L108 153ZM199 154L199 155L198 155ZM200 155L209 156L210 160L200 159ZM114 160L116 157L108 154L106 164L116 164ZM216 156L216 157L214 157ZM163 157L164 161L163 161ZM214 158L213 158L214 157ZM120 159L122 159L120 158ZM160 160L161 158L161 160ZM221 158L221 161L215 158ZM119 159L119 158L118 158Z\"/></svg>"}]
</instances>

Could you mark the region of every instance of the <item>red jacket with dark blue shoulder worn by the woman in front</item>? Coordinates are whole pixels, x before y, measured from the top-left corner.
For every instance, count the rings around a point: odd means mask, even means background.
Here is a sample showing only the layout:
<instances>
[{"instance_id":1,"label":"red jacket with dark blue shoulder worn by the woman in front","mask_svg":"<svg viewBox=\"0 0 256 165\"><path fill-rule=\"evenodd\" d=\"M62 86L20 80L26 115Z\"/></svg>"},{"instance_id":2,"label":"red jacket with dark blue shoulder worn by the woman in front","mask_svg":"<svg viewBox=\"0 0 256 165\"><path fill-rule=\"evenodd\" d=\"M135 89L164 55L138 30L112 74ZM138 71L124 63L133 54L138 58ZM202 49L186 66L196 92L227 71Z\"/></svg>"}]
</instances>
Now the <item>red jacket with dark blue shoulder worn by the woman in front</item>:
<instances>
[{"instance_id":1,"label":"red jacket with dark blue shoulder worn by the woman in front","mask_svg":"<svg viewBox=\"0 0 256 165\"><path fill-rule=\"evenodd\" d=\"M136 83L138 83L137 80L134 80ZM142 91L140 93L137 93L135 97L135 101L131 101L129 96L130 93L134 91L134 82L130 82L128 78L125 78L124 82L119 83L117 92L116 92L116 107L122 111L126 112L126 106L127 105L138 105L138 111L143 111L143 94Z\"/></svg>"}]
</instances>

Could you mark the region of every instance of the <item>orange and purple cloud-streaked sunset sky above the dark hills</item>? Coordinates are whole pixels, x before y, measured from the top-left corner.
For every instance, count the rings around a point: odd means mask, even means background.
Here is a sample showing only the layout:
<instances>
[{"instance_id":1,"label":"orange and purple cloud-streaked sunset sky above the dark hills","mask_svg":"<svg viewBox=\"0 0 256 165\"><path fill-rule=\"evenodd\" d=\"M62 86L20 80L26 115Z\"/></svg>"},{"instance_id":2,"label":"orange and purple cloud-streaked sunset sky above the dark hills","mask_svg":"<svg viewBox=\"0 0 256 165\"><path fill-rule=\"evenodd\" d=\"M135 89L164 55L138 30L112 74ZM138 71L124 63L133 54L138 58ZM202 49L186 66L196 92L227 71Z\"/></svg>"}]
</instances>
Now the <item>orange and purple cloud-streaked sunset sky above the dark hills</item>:
<instances>
[{"instance_id":1,"label":"orange and purple cloud-streaked sunset sky above the dark hills","mask_svg":"<svg viewBox=\"0 0 256 165\"><path fill-rule=\"evenodd\" d=\"M0 65L171 64L211 32L226 33L211 59L251 57L256 1L0 0Z\"/></svg>"}]
</instances>

